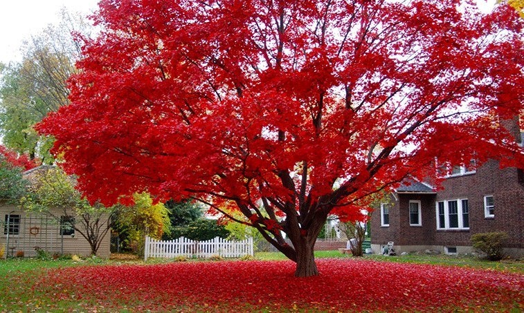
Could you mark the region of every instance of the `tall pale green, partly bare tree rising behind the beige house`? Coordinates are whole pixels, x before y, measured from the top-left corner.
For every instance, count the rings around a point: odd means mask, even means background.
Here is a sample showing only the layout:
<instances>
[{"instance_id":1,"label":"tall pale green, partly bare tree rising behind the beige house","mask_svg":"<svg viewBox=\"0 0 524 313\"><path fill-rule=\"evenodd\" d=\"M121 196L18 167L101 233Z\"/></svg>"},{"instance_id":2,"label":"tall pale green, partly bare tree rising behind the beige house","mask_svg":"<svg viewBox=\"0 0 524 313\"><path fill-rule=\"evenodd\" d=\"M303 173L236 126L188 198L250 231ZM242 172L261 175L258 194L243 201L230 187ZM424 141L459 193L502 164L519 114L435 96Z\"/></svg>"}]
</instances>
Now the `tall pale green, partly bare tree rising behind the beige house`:
<instances>
[{"instance_id":1,"label":"tall pale green, partly bare tree rising behind the beige house","mask_svg":"<svg viewBox=\"0 0 524 313\"><path fill-rule=\"evenodd\" d=\"M79 14L62 11L62 20L26 41L21 62L0 68L0 133L3 143L18 153L37 155L45 164L53 158L53 138L33 126L48 112L67 104L66 79L76 73L80 46L72 32L89 35L91 27Z\"/></svg>"}]
</instances>

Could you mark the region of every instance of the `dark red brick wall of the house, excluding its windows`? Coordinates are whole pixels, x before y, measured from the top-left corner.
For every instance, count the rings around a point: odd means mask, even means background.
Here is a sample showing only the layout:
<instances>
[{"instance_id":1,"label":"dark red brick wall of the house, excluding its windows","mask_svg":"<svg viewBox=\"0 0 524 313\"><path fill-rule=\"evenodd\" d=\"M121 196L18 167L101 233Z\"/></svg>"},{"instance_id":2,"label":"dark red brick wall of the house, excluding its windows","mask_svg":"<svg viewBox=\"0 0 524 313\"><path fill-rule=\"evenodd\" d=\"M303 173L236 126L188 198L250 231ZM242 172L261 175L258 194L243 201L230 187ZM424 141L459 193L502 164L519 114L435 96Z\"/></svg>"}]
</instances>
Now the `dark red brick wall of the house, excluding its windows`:
<instances>
[{"instance_id":1,"label":"dark red brick wall of the house, excluding its windows","mask_svg":"<svg viewBox=\"0 0 524 313\"><path fill-rule=\"evenodd\" d=\"M505 231L508 247L524 248L524 186L515 168L499 169L498 162L489 161L475 174L448 178L437 195L398 194L390 210L390 226L380 226L380 209L371 220L371 241L385 245L453 245L471 246L471 235L480 232ZM493 195L495 217L485 218L484 196ZM435 202L468 199L469 230L437 230ZM422 227L409 225L408 201L420 200Z\"/></svg>"}]
</instances>

